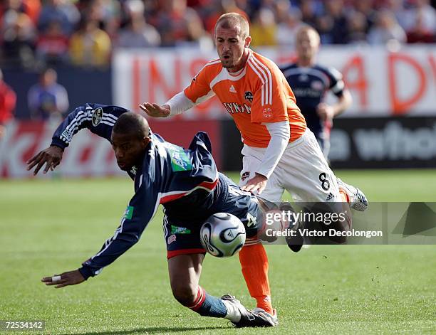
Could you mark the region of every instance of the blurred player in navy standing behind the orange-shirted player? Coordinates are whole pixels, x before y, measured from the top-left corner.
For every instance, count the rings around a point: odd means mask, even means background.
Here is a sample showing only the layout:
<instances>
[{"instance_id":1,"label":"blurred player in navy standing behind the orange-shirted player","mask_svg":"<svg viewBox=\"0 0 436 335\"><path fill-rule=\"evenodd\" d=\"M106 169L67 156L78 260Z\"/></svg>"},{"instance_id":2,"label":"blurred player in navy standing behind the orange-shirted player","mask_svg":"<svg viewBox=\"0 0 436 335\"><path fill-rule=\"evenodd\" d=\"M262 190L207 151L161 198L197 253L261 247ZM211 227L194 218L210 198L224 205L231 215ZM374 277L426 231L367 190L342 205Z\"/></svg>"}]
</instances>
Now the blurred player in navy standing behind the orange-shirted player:
<instances>
[{"instance_id":1,"label":"blurred player in navy standing behind the orange-shirted player","mask_svg":"<svg viewBox=\"0 0 436 335\"><path fill-rule=\"evenodd\" d=\"M338 70L316 63L319 45L318 32L311 26L302 26L296 33L296 63L281 70L294 92L307 127L315 134L327 159L333 118L351 106L352 98ZM328 90L338 98L334 105L323 102Z\"/></svg>"}]
</instances>

